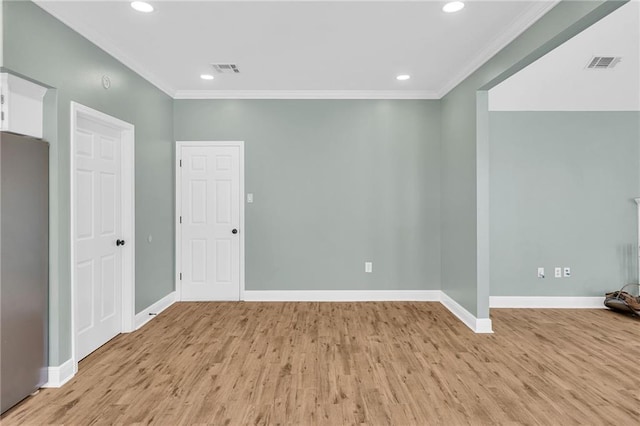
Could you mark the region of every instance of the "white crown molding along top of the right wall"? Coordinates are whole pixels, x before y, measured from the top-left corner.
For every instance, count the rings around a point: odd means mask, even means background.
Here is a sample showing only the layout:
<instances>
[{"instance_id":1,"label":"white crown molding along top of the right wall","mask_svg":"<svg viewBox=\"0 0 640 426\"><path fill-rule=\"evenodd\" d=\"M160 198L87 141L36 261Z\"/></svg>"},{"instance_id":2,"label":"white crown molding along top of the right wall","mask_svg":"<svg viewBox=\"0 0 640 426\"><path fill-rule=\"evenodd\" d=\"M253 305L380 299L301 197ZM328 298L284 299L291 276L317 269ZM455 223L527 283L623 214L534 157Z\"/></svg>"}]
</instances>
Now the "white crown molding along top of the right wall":
<instances>
[{"instance_id":1,"label":"white crown molding along top of the right wall","mask_svg":"<svg viewBox=\"0 0 640 426\"><path fill-rule=\"evenodd\" d=\"M453 78L438 90L438 99L444 98L447 93L462 83L471 74L477 71L496 53L504 49L509 43L515 40L520 34L525 32L531 25L542 18L547 12L553 9L561 0L544 0L535 2L527 10L518 15L506 29L493 39L489 45L481 50L462 70L454 74Z\"/></svg>"}]
</instances>

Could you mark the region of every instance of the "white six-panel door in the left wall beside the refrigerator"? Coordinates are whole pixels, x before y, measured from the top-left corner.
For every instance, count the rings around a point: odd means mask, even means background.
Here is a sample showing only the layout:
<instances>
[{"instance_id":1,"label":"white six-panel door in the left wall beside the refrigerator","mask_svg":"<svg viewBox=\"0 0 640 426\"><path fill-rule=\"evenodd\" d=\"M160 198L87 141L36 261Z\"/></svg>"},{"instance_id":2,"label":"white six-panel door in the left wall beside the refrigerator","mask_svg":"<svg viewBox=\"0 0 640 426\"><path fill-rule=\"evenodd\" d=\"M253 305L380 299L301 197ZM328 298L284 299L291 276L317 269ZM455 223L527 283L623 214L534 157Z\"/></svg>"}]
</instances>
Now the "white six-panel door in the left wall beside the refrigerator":
<instances>
[{"instance_id":1,"label":"white six-panel door in the left wall beside the refrigerator","mask_svg":"<svg viewBox=\"0 0 640 426\"><path fill-rule=\"evenodd\" d=\"M122 330L122 136L82 116L72 131L74 322L80 360Z\"/></svg>"}]
</instances>

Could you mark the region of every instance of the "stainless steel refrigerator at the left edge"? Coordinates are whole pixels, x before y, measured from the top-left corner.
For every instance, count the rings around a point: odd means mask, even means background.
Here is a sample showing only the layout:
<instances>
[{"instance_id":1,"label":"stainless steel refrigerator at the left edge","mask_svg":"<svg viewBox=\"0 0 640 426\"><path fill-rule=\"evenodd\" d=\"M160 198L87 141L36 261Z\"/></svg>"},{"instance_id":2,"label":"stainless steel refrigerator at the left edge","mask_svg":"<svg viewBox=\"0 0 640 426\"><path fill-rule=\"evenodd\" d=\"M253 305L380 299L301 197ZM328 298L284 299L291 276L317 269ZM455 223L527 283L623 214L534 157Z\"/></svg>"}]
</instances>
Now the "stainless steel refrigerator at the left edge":
<instances>
[{"instance_id":1,"label":"stainless steel refrigerator at the left edge","mask_svg":"<svg viewBox=\"0 0 640 426\"><path fill-rule=\"evenodd\" d=\"M47 381L49 144L0 132L0 412Z\"/></svg>"}]
</instances>

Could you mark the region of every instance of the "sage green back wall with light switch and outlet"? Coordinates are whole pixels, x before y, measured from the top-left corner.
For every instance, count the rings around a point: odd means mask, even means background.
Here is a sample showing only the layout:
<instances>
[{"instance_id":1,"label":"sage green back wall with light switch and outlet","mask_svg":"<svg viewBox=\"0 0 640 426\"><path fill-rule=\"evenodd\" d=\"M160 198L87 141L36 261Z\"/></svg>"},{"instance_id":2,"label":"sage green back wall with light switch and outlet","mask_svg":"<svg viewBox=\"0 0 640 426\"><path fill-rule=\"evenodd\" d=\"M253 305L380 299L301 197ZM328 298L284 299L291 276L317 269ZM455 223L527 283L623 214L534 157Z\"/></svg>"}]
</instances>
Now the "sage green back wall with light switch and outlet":
<instances>
[{"instance_id":1,"label":"sage green back wall with light switch and outlet","mask_svg":"<svg viewBox=\"0 0 640 426\"><path fill-rule=\"evenodd\" d=\"M440 288L438 101L174 108L178 141L245 141L247 290Z\"/></svg>"}]
</instances>

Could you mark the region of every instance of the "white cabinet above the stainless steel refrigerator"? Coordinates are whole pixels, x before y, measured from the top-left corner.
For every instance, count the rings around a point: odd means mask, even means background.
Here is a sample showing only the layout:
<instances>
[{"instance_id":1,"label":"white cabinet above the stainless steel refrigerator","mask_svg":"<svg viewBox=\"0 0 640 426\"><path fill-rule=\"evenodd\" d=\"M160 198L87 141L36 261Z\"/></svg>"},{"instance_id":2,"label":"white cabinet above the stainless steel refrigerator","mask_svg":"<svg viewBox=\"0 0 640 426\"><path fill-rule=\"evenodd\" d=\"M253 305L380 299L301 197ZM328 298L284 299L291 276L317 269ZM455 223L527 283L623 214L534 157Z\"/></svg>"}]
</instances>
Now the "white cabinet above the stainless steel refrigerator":
<instances>
[{"instance_id":1,"label":"white cabinet above the stainless steel refrigerator","mask_svg":"<svg viewBox=\"0 0 640 426\"><path fill-rule=\"evenodd\" d=\"M42 104L47 88L0 73L0 130L42 138Z\"/></svg>"}]
</instances>

